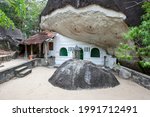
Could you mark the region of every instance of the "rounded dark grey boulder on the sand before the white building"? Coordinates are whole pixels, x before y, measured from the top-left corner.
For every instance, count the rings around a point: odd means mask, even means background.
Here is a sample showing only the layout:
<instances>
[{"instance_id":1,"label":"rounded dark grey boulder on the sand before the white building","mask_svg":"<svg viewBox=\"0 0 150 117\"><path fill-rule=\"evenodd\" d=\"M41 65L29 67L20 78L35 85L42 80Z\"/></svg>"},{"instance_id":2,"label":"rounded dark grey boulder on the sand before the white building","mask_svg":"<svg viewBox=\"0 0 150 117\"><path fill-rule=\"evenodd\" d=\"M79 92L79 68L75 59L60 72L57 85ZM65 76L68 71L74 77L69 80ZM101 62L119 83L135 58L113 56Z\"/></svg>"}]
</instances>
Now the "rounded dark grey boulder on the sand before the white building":
<instances>
[{"instance_id":1,"label":"rounded dark grey boulder on the sand before the white building","mask_svg":"<svg viewBox=\"0 0 150 117\"><path fill-rule=\"evenodd\" d=\"M55 71L49 82L68 90L107 88L119 85L111 72L83 60L66 61Z\"/></svg>"}]
</instances>

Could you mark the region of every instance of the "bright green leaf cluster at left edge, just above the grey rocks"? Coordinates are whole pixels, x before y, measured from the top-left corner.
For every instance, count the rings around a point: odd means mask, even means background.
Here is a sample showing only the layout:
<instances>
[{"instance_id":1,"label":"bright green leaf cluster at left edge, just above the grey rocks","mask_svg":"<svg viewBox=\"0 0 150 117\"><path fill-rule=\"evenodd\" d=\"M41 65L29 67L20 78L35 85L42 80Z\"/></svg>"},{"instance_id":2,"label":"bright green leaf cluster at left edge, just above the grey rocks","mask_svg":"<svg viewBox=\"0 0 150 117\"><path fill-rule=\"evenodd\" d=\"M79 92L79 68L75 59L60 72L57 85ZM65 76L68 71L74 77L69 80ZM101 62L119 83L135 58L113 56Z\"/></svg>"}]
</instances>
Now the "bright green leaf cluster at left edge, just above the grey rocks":
<instances>
[{"instance_id":1,"label":"bright green leaf cluster at left edge, just above the grey rocks","mask_svg":"<svg viewBox=\"0 0 150 117\"><path fill-rule=\"evenodd\" d=\"M0 9L0 26L4 28L14 28L13 21L6 16L6 14Z\"/></svg>"}]
</instances>

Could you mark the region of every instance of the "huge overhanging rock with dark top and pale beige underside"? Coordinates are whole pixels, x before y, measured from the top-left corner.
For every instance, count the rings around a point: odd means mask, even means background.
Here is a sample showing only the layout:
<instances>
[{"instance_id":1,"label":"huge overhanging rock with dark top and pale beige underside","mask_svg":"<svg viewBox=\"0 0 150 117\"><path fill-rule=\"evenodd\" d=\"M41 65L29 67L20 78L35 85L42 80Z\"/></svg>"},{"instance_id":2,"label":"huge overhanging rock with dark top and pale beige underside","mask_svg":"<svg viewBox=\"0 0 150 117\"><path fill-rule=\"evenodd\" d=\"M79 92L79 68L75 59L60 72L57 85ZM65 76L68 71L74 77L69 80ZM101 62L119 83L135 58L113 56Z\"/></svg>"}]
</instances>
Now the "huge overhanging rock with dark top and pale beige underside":
<instances>
[{"instance_id":1,"label":"huge overhanging rock with dark top and pale beige underside","mask_svg":"<svg viewBox=\"0 0 150 117\"><path fill-rule=\"evenodd\" d=\"M140 21L142 11L134 4L130 0L49 0L40 26L78 41L114 49L123 41L128 25Z\"/></svg>"}]
</instances>

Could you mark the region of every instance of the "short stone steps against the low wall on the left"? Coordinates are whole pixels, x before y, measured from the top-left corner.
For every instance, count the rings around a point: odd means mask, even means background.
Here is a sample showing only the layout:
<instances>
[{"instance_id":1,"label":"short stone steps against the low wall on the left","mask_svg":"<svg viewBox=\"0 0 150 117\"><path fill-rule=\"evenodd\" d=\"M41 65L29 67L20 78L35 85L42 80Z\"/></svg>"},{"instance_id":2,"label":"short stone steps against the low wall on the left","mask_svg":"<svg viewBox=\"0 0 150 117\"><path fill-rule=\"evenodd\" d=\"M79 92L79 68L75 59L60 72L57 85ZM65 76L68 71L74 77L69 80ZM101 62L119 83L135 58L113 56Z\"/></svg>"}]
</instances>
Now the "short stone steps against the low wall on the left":
<instances>
[{"instance_id":1,"label":"short stone steps against the low wall on the left","mask_svg":"<svg viewBox=\"0 0 150 117\"><path fill-rule=\"evenodd\" d=\"M22 78L32 72L32 69L29 69L27 66L22 66L15 69L15 75L18 78Z\"/></svg>"}]
</instances>

